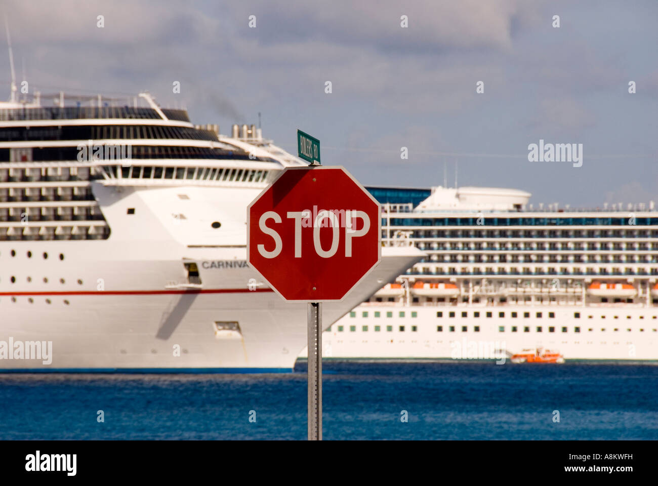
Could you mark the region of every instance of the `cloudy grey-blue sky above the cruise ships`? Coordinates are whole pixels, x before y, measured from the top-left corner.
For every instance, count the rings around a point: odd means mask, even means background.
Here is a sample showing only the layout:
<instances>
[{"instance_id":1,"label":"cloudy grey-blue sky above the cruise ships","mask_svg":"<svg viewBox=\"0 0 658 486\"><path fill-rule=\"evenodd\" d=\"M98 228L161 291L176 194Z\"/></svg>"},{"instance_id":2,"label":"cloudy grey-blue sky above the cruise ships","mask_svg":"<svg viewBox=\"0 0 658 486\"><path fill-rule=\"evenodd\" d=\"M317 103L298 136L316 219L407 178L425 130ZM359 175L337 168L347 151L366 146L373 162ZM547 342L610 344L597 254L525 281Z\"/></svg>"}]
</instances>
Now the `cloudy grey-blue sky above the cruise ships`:
<instances>
[{"instance_id":1,"label":"cloudy grey-blue sky above the cruise ships","mask_svg":"<svg viewBox=\"0 0 658 486\"><path fill-rule=\"evenodd\" d=\"M655 0L1 0L0 11L31 91L147 90L223 134L261 113L265 138L296 153L299 128L324 165L364 185L440 186L447 173L454 186L456 169L459 186L518 188L531 203L658 203ZM540 140L582 144L582 166L529 161Z\"/></svg>"}]
</instances>

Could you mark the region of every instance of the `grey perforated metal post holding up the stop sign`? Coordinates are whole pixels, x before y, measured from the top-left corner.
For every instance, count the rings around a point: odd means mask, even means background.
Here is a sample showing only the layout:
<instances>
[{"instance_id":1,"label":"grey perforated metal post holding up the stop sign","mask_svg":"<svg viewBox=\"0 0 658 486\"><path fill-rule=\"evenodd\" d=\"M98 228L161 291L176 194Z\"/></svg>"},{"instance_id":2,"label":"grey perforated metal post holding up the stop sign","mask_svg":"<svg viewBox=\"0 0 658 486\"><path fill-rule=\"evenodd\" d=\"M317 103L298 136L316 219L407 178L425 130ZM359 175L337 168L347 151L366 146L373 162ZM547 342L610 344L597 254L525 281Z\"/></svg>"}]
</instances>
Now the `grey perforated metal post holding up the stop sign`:
<instances>
[{"instance_id":1,"label":"grey perforated metal post holding up the stop sign","mask_svg":"<svg viewBox=\"0 0 658 486\"><path fill-rule=\"evenodd\" d=\"M322 440L322 303L309 302L309 441Z\"/></svg>"}]
</instances>

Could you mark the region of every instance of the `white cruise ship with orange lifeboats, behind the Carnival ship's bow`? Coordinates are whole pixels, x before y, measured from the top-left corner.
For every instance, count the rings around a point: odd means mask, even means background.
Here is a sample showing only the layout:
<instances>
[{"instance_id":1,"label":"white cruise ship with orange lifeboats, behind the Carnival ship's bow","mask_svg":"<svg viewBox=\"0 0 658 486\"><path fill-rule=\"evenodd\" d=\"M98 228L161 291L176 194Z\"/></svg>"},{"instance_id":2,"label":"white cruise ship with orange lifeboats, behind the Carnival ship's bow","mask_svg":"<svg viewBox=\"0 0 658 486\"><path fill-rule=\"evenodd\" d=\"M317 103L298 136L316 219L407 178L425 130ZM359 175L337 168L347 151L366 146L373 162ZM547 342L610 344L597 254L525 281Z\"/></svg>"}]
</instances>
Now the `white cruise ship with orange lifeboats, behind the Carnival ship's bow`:
<instances>
[{"instance_id":1,"label":"white cruise ship with orange lifeboats, behind the Carnival ship's bow","mask_svg":"<svg viewBox=\"0 0 658 486\"><path fill-rule=\"evenodd\" d=\"M653 202L574 210L512 189L369 190L385 244L403 235L427 256L324 332L324 356L658 360Z\"/></svg>"}]
</instances>

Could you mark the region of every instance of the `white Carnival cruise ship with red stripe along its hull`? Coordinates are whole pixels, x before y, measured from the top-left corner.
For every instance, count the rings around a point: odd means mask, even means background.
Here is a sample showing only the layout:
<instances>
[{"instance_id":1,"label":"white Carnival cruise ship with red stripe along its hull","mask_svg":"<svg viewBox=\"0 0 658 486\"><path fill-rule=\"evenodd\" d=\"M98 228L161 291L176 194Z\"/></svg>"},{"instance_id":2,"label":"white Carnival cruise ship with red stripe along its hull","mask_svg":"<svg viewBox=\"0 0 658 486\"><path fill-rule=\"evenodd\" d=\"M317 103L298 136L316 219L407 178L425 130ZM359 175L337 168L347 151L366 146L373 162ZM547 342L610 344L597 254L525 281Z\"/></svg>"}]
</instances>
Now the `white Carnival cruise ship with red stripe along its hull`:
<instances>
[{"instance_id":1,"label":"white Carnival cruise ship with red stripe along its hull","mask_svg":"<svg viewBox=\"0 0 658 486\"><path fill-rule=\"evenodd\" d=\"M249 269L245 223L279 171L306 163L253 125L222 136L146 93L17 98L13 85L0 103L1 371L293 368L307 306ZM420 257L384 248L324 322Z\"/></svg>"}]
</instances>

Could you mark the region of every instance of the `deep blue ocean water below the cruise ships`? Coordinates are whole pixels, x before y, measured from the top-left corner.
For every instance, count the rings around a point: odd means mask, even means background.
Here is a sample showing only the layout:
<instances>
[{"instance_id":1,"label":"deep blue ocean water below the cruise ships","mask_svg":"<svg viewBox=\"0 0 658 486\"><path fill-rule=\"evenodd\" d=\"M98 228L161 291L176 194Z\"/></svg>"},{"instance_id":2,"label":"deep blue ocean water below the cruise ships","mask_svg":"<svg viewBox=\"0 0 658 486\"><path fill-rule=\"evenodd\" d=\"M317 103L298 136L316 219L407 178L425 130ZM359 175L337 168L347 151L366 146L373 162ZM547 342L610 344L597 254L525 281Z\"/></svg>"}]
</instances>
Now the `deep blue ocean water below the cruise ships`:
<instances>
[{"instance_id":1,"label":"deep blue ocean water below the cruise ships","mask_svg":"<svg viewBox=\"0 0 658 486\"><path fill-rule=\"evenodd\" d=\"M323 368L326 440L658 439L658 365ZM271 375L0 375L0 439L306 439L306 387L305 362Z\"/></svg>"}]
</instances>

